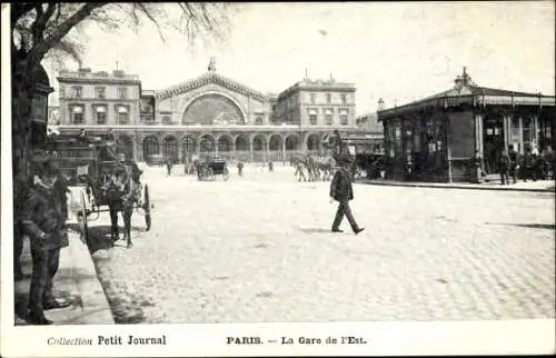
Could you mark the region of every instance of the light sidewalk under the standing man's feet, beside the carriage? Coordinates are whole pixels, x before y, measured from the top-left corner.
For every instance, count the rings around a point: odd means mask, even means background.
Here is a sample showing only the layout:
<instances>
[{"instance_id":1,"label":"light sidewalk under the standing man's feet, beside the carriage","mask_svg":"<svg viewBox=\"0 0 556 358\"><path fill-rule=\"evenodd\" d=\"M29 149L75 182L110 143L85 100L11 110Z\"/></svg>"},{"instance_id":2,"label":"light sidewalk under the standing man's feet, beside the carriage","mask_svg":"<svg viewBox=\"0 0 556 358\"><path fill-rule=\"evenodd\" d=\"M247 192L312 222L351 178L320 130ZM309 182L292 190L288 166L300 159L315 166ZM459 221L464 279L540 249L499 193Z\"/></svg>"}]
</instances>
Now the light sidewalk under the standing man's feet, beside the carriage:
<instances>
[{"instance_id":1,"label":"light sidewalk under the standing man's feet, beside the carriage","mask_svg":"<svg viewBox=\"0 0 556 358\"><path fill-rule=\"evenodd\" d=\"M24 279L14 282L16 326L27 325L24 314L31 285L32 261L29 240L21 256ZM87 245L79 235L69 233L69 247L60 251L60 267L54 276L53 294L72 305L44 312L53 325L113 325L113 318L100 286Z\"/></svg>"}]
</instances>

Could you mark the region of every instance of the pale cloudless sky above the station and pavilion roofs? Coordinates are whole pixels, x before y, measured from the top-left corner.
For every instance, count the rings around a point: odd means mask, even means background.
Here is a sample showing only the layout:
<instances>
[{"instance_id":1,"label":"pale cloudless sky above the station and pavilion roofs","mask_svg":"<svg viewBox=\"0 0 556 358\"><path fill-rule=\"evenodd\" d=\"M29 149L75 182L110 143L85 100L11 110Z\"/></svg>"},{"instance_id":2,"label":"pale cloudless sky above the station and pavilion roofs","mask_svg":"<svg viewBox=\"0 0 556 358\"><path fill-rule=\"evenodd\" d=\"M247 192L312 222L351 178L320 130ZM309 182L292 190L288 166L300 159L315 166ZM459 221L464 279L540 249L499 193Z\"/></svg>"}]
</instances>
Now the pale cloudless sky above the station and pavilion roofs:
<instances>
[{"instance_id":1,"label":"pale cloudless sky above the station and pavilion roofs","mask_svg":"<svg viewBox=\"0 0 556 358\"><path fill-rule=\"evenodd\" d=\"M357 87L357 115L418 100L454 86L463 67L485 87L555 93L554 1L306 2L235 6L226 41L188 46L152 24L136 33L87 27L83 67L139 74L143 89L163 89L207 71L261 92L304 79ZM176 9L177 4L167 4ZM46 63L54 79L57 68ZM78 66L68 62L68 69ZM54 82L54 88L57 83ZM54 93L56 96L56 93Z\"/></svg>"}]
</instances>

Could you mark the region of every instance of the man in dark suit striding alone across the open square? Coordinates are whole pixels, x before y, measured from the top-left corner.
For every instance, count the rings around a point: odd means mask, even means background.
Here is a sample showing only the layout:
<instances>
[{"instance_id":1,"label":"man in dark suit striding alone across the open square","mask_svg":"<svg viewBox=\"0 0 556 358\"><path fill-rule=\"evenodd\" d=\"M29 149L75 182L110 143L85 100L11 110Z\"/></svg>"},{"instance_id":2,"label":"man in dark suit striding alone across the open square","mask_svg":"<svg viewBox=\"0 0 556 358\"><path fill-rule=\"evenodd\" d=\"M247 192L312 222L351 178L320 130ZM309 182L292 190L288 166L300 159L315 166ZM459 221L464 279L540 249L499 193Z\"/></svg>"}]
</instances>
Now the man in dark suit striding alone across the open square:
<instances>
[{"instance_id":1,"label":"man in dark suit striding alone across the open square","mask_svg":"<svg viewBox=\"0 0 556 358\"><path fill-rule=\"evenodd\" d=\"M334 219L332 232L342 232L339 227L341 220L344 220L344 216L346 216L351 226L351 230L357 235L365 230L365 228L359 228L349 208L349 200L354 199L351 177L348 171L349 162L347 159L344 159L339 160L339 165L340 168L334 175L332 182L330 183L330 202L332 199L338 201L338 210Z\"/></svg>"}]
</instances>

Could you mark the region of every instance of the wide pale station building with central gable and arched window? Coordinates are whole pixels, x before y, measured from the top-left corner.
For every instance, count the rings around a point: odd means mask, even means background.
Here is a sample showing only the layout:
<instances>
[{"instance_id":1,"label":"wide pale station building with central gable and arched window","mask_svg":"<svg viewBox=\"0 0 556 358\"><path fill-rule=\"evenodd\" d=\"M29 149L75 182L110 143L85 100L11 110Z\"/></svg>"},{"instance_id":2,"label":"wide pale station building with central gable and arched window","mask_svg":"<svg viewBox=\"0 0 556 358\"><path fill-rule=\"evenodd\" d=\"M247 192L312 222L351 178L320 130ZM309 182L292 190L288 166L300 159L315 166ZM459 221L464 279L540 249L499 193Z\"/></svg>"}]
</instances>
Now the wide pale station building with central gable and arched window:
<instances>
[{"instance_id":1,"label":"wide pale station building with central gable and arched window","mask_svg":"<svg viewBox=\"0 0 556 358\"><path fill-rule=\"evenodd\" d=\"M287 160L299 151L325 155L334 129L358 130L355 84L334 79L304 79L276 96L217 73L211 62L206 73L155 91L141 91L139 78L123 71L61 72L58 80L60 131L102 136L112 128L138 161Z\"/></svg>"}]
</instances>

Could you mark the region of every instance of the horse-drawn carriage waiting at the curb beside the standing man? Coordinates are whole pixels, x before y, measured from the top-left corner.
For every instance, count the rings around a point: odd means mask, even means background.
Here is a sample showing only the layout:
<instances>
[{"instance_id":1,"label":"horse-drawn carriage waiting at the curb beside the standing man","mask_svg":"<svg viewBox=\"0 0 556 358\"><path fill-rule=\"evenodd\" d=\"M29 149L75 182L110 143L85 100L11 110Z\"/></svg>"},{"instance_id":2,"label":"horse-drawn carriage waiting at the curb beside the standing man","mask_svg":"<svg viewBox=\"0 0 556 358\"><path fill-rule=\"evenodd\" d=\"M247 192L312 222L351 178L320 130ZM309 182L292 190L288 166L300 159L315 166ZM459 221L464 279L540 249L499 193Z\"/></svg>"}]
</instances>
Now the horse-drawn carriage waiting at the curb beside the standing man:
<instances>
[{"instance_id":1,"label":"horse-drawn carriage waiting at the curb beside the standing man","mask_svg":"<svg viewBox=\"0 0 556 358\"><path fill-rule=\"evenodd\" d=\"M151 226L152 205L149 187L140 181L141 170L132 160L118 153L118 148L101 140L75 140L75 138L51 138L46 149L56 158L71 191L71 209L88 240L89 222L100 212L110 212L112 242L119 239L118 212L122 213L125 238L128 248L131 242L131 215L133 209L142 210L146 230Z\"/></svg>"}]
</instances>

